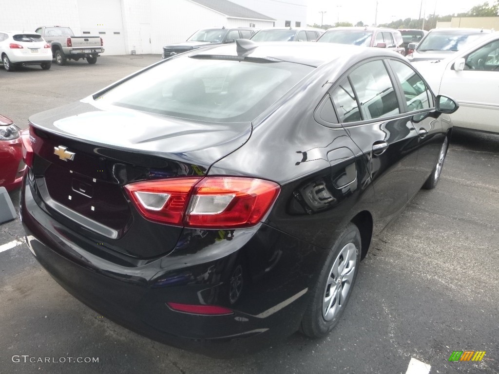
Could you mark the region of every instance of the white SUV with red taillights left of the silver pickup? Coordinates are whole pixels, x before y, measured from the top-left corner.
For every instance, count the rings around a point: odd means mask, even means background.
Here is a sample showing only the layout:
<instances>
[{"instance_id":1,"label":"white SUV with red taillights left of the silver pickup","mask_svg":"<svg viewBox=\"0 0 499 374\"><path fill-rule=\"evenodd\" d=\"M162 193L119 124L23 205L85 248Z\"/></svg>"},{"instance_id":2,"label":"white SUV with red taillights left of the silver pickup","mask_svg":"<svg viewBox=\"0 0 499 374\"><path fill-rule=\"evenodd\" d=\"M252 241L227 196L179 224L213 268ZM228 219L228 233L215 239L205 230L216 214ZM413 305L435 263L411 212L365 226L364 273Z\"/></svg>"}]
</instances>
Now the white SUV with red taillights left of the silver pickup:
<instances>
[{"instance_id":1,"label":"white SUV with red taillights left of the silver pickup","mask_svg":"<svg viewBox=\"0 0 499 374\"><path fill-rule=\"evenodd\" d=\"M0 31L0 57L7 71L18 65L40 65L47 70L52 64L50 44L34 32Z\"/></svg>"}]
</instances>

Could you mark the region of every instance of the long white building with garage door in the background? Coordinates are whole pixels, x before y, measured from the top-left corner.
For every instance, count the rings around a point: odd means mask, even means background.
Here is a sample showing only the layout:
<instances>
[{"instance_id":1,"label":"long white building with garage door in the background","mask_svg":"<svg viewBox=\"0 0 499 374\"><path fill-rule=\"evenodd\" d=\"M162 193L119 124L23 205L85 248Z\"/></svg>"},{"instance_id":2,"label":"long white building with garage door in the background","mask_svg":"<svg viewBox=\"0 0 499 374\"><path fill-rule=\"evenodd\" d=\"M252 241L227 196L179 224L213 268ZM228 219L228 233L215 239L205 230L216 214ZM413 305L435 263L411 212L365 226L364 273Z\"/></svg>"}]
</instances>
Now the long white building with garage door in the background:
<instances>
[{"instance_id":1,"label":"long white building with garage door in the background","mask_svg":"<svg viewBox=\"0 0 499 374\"><path fill-rule=\"evenodd\" d=\"M286 4L280 6L287 14ZM0 12L2 30L69 26L77 35L102 37L105 54L160 54L163 45L185 41L200 28L274 23L275 18L228 0L22 0L9 1Z\"/></svg>"}]
</instances>

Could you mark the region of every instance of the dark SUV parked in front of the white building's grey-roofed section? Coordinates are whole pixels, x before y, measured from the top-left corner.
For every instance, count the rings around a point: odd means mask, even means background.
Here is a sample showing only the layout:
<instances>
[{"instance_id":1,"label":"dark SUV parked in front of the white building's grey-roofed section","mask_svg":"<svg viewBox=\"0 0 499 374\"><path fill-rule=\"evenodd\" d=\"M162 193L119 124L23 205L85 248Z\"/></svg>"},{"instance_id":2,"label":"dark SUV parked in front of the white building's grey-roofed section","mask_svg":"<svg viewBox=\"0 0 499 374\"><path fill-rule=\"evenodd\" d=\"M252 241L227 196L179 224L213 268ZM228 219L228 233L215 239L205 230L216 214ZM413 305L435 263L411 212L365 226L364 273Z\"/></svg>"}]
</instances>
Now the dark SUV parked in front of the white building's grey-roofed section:
<instances>
[{"instance_id":1,"label":"dark SUV parked in front of the white building's grey-roofed section","mask_svg":"<svg viewBox=\"0 0 499 374\"><path fill-rule=\"evenodd\" d=\"M163 47L163 58L208 45L234 43L237 39L250 39L256 31L258 29L254 27L202 28L183 43L165 45Z\"/></svg>"}]
</instances>

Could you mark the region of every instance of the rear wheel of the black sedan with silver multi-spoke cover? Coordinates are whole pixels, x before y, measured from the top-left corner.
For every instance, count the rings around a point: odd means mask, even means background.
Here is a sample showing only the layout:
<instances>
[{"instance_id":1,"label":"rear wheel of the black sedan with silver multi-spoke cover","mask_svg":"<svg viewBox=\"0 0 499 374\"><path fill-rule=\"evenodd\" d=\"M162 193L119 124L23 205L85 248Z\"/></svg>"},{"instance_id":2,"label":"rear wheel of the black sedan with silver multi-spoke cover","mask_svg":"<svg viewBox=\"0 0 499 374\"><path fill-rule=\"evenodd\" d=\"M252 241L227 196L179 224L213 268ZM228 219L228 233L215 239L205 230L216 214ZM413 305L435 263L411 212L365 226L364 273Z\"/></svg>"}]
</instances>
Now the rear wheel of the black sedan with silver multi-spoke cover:
<instances>
[{"instance_id":1,"label":"rear wheel of the black sedan with silver multi-spoke cover","mask_svg":"<svg viewBox=\"0 0 499 374\"><path fill-rule=\"evenodd\" d=\"M359 229L349 223L331 247L317 283L311 291L311 301L300 326L303 334L310 338L319 338L336 326L357 278L360 253Z\"/></svg>"}]
</instances>

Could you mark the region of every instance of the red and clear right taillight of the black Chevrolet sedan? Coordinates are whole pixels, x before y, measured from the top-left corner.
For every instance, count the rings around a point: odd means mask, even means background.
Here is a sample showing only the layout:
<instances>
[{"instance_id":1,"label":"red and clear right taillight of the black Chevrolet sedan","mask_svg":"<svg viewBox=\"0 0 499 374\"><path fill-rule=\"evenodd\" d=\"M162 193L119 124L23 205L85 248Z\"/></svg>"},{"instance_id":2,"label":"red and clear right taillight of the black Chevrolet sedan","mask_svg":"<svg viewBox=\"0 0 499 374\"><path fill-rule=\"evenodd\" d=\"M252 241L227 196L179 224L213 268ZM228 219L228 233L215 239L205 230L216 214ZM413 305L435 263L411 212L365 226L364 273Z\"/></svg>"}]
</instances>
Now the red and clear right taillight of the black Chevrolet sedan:
<instances>
[{"instance_id":1,"label":"red and clear right taillight of the black Chevrolet sedan","mask_svg":"<svg viewBox=\"0 0 499 374\"><path fill-rule=\"evenodd\" d=\"M275 201L274 182L244 177L188 177L125 186L141 214L155 222L199 228L249 227Z\"/></svg>"}]
</instances>

